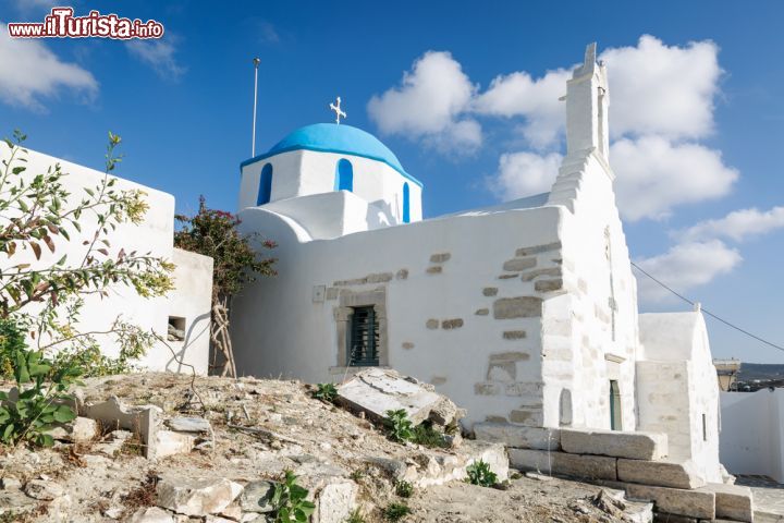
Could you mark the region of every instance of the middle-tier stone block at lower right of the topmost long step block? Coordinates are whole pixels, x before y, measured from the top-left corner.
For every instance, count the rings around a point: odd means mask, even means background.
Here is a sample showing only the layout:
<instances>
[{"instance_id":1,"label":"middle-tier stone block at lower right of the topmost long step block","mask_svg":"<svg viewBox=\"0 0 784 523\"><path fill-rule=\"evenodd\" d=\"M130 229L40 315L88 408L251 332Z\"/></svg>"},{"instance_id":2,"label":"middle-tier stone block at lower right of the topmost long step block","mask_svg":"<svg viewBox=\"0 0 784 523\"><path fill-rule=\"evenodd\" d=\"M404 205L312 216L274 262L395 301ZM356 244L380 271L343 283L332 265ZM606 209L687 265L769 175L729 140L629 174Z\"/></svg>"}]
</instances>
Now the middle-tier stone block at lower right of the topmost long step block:
<instances>
[{"instance_id":1,"label":"middle-tier stone block at lower right of the topmost long step block","mask_svg":"<svg viewBox=\"0 0 784 523\"><path fill-rule=\"evenodd\" d=\"M562 441L563 445L563 441ZM699 488L707 482L690 461L641 461L618 459L618 479L672 488Z\"/></svg>"}]
</instances>

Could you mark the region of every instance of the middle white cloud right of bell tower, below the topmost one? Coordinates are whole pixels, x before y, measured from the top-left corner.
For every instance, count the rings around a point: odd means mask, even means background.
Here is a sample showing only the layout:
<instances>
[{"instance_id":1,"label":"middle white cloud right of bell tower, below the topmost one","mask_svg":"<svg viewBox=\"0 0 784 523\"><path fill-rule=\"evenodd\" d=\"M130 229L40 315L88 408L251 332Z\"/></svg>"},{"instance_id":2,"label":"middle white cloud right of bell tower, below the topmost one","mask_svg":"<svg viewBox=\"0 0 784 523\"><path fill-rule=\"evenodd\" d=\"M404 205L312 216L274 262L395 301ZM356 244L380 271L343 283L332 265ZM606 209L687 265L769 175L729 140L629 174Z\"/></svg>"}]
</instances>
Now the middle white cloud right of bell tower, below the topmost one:
<instances>
[{"instance_id":1,"label":"middle white cloud right of bell tower, below the topmost one","mask_svg":"<svg viewBox=\"0 0 784 523\"><path fill-rule=\"evenodd\" d=\"M632 221L663 218L675 206L724 196L738 178L720 151L660 136L620 139L612 144L610 158L618 208Z\"/></svg>"}]
</instances>

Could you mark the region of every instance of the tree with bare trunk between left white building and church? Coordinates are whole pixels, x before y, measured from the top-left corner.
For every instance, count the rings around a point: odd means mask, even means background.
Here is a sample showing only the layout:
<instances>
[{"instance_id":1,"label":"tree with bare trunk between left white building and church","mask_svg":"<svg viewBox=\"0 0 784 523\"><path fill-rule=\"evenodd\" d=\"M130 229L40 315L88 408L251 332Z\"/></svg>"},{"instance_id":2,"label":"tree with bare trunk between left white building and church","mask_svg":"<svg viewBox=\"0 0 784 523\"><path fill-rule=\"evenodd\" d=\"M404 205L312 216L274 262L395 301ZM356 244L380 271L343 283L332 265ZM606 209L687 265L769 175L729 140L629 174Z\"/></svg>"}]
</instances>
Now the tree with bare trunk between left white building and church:
<instances>
[{"instance_id":1,"label":"tree with bare trunk between left white building and church","mask_svg":"<svg viewBox=\"0 0 784 523\"><path fill-rule=\"evenodd\" d=\"M274 276L274 258L261 258L252 245L274 248L271 241L260 241L257 234L243 235L237 230L240 219L224 210L207 207L204 196L195 216L176 215L180 230L174 233L174 246L212 258L212 317L210 342L213 354L222 355L222 362L213 360L212 368L221 376L236 376L234 353L229 336L229 311L231 300L257 276Z\"/></svg>"}]
</instances>

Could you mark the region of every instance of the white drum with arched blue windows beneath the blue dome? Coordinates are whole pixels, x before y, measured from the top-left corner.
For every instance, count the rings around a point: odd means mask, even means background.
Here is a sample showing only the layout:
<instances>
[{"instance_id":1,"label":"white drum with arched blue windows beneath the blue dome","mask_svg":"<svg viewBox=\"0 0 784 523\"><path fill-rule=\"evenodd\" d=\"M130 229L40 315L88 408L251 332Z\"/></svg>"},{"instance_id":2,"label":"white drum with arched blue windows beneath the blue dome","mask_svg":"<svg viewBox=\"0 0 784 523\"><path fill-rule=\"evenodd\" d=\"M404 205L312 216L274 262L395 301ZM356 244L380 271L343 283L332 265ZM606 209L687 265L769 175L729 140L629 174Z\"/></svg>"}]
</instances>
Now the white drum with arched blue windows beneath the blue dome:
<instances>
[{"instance_id":1,"label":"white drum with arched blue windows beneath the blue dome","mask_svg":"<svg viewBox=\"0 0 784 523\"><path fill-rule=\"evenodd\" d=\"M238 208L255 207L261 169L272 165L271 202L334 192L338 161L351 161L353 193L378 208L389 224L403 222L403 184L408 183L411 221L421 220L421 187L382 161L368 158L293 150L246 165L242 169Z\"/></svg>"}]
</instances>

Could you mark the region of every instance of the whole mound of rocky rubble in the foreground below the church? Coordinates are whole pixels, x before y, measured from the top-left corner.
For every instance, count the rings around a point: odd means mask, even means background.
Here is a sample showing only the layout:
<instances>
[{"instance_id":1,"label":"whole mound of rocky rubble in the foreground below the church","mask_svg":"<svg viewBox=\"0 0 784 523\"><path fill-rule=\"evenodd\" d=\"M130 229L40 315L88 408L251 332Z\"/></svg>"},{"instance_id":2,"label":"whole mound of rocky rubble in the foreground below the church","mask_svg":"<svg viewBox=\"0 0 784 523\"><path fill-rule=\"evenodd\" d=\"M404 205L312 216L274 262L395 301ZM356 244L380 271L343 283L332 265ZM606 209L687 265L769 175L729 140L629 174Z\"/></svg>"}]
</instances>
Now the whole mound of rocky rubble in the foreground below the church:
<instances>
[{"instance_id":1,"label":"whole mound of rocky rubble in the foreground below the church","mask_svg":"<svg viewBox=\"0 0 784 523\"><path fill-rule=\"evenodd\" d=\"M408 503L412 522L614 521L590 501L597 487L547 476L515 476L504 490L464 483L478 459L506 478L500 443L401 445L372 415L311 391L255 378L205 377L193 387L171 374L89 379L77 394L81 417L61 427L53 448L0 447L0 521L264 523L286 470L308 490L313 522L343 523L353 511L383 521L391 502ZM441 427L461 415L443 397L426 410L422 418ZM185 443L173 452L173 441ZM414 486L413 498L396 496L399 482Z\"/></svg>"}]
</instances>

